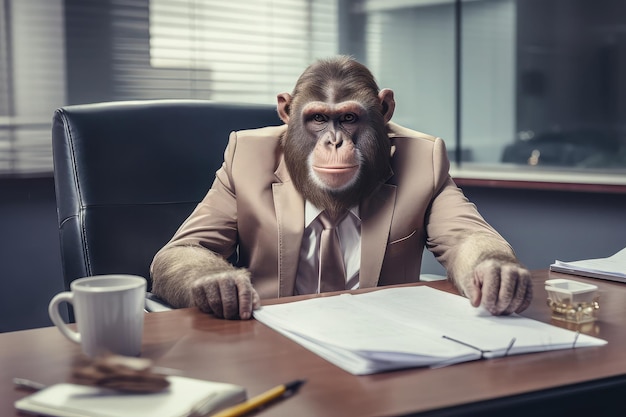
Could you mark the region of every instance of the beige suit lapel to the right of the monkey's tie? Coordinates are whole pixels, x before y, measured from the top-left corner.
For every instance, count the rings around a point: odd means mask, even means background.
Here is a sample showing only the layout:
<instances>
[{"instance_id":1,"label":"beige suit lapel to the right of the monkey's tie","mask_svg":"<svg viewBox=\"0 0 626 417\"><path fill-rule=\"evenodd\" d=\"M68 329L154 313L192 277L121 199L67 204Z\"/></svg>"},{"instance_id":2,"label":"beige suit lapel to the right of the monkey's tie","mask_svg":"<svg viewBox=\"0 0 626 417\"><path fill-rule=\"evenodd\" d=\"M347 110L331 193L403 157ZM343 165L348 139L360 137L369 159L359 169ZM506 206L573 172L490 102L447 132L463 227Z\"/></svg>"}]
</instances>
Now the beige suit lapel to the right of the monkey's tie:
<instances>
[{"instance_id":1,"label":"beige suit lapel to the right of the monkey's tie","mask_svg":"<svg viewBox=\"0 0 626 417\"><path fill-rule=\"evenodd\" d=\"M378 284L395 202L396 186L382 184L361 203L360 288L375 287Z\"/></svg>"}]
</instances>

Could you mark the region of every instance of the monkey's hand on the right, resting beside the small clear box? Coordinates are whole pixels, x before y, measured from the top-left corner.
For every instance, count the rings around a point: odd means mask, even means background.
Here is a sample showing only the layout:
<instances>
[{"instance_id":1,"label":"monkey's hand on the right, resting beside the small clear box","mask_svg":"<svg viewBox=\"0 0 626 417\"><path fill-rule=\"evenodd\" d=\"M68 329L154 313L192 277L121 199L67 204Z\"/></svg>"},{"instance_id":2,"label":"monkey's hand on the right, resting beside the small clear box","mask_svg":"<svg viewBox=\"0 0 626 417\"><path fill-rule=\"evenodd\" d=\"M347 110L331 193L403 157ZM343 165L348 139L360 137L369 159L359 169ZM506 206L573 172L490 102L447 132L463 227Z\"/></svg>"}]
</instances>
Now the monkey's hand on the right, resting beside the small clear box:
<instances>
[{"instance_id":1,"label":"monkey's hand on the right, resting beside the small clear box","mask_svg":"<svg viewBox=\"0 0 626 417\"><path fill-rule=\"evenodd\" d=\"M480 262L459 284L474 307L482 305L493 315L520 313L533 295L526 268L494 258Z\"/></svg>"}]
</instances>

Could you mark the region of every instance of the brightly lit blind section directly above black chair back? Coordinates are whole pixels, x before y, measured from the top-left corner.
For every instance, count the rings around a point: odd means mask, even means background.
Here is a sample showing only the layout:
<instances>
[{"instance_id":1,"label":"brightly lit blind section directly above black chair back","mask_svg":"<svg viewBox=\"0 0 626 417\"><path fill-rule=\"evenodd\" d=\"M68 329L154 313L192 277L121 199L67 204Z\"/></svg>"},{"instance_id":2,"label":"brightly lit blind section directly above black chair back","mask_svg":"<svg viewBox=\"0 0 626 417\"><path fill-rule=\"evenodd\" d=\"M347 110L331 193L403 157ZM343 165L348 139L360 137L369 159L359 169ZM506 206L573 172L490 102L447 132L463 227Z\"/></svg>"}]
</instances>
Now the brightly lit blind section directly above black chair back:
<instances>
[{"instance_id":1,"label":"brightly lit blind section directly above black chair back","mask_svg":"<svg viewBox=\"0 0 626 417\"><path fill-rule=\"evenodd\" d=\"M337 53L337 0L118 0L119 99L273 103L318 57Z\"/></svg>"}]
</instances>

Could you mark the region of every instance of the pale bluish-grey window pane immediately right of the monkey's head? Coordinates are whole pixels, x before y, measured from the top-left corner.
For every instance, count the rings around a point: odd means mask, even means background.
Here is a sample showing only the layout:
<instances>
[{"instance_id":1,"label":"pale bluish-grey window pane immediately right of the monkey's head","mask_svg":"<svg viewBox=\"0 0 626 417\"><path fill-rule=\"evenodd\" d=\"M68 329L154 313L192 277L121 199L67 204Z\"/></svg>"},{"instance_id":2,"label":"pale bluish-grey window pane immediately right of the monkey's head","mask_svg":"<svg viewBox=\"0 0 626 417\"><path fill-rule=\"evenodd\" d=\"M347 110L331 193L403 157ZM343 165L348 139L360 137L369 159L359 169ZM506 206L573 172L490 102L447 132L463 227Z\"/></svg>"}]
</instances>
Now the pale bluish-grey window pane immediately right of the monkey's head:
<instances>
[{"instance_id":1,"label":"pale bluish-grey window pane immediately right of the monkey's head","mask_svg":"<svg viewBox=\"0 0 626 417\"><path fill-rule=\"evenodd\" d=\"M395 92L394 121L453 146L454 4L408 3L366 2L366 61L380 87Z\"/></svg>"}]
</instances>

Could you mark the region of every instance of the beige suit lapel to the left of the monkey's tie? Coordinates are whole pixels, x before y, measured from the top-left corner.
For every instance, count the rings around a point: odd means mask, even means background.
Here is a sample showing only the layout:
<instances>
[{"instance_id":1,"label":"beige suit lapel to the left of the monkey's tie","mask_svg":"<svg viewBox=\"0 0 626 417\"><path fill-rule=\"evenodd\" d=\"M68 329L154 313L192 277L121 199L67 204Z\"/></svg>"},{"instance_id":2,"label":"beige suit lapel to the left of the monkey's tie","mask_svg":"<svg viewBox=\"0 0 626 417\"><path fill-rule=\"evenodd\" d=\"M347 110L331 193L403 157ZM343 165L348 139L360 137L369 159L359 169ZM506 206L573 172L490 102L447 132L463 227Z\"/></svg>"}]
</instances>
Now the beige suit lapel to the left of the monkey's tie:
<instances>
[{"instance_id":1,"label":"beige suit lapel to the left of the monkey's tie","mask_svg":"<svg viewBox=\"0 0 626 417\"><path fill-rule=\"evenodd\" d=\"M293 295L304 233L304 199L296 191L284 159L275 172L280 182L272 184L274 208L278 224L279 296Z\"/></svg>"}]
</instances>

